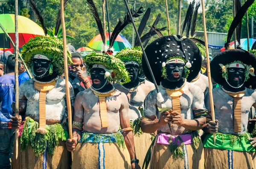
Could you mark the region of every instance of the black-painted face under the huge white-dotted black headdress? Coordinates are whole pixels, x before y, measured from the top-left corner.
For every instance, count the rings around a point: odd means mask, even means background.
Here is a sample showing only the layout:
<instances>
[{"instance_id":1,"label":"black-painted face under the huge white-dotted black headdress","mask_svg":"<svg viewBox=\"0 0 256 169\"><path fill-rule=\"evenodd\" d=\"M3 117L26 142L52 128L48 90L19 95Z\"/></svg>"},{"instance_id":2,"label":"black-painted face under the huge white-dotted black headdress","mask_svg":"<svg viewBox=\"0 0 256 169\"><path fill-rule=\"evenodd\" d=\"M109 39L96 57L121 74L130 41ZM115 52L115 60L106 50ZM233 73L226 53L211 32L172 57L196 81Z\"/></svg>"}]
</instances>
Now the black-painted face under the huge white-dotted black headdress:
<instances>
[{"instance_id":1,"label":"black-painted face under the huge white-dotted black headdress","mask_svg":"<svg viewBox=\"0 0 256 169\"><path fill-rule=\"evenodd\" d=\"M166 79L169 82L178 82L182 77L184 70L183 63L169 63L166 65Z\"/></svg>"}]
</instances>

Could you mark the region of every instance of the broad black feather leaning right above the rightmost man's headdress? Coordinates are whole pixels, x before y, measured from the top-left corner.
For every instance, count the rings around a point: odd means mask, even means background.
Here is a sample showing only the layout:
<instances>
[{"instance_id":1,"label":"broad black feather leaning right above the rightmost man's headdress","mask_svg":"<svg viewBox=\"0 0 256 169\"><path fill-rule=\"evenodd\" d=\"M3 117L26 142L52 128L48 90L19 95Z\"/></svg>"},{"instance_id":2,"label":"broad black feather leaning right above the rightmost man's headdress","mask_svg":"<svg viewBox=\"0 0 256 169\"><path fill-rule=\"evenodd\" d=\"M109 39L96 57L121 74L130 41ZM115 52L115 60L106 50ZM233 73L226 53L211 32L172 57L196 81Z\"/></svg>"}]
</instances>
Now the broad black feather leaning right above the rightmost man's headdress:
<instances>
[{"instance_id":1,"label":"broad black feather leaning right above the rightmost man's headdress","mask_svg":"<svg viewBox=\"0 0 256 169\"><path fill-rule=\"evenodd\" d=\"M244 5L237 11L236 17L232 21L228 34L227 34L227 44L230 43L231 37L233 32L235 31L235 28L237 25L241 22L241 20L244 17L245 12L248 10L248 8L253 4L254 0L247 0ZM225 45L227 46L227 45Z\"/></svg>"}]
</instances>

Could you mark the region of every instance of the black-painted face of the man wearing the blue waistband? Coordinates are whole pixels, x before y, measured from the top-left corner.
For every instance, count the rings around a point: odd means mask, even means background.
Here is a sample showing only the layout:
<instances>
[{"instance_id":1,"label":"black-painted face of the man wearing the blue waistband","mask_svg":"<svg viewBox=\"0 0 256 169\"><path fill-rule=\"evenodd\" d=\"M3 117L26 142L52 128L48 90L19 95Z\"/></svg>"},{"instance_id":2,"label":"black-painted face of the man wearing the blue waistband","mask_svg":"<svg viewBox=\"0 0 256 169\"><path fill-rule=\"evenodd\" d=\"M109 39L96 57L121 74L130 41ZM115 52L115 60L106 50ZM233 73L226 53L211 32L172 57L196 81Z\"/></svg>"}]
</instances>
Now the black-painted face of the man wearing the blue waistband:
<instances>
[{"instance_id":1,"label":"black-painted face of the man wearing the blue waistband","mask_svg":"<svg viewBox=\"0 0 256 169\"><path fill-rule=\"evenodd\" d=\"M105 82L105 70L102 68L93 68L92 72L91 72L91 79L93 82L93 87L96 89L99 89L100 87L102 87Z\"/></svg>"}]
</instances>

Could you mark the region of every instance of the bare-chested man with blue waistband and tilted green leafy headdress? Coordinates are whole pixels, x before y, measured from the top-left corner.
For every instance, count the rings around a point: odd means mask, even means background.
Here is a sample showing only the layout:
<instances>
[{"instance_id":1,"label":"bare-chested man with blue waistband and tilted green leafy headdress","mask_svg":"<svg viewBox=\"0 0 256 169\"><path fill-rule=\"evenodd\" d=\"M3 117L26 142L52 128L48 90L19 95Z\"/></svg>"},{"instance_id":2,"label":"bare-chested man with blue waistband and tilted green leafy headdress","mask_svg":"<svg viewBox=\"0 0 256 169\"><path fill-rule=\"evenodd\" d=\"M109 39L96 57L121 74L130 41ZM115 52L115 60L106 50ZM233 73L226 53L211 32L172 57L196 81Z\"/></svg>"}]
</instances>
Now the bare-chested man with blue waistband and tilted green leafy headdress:
<instances>
[{"instance_id":1,"label":"bare-chested man with blue waistband and tilted green leafy headdress","mask_svg":"<svg viewBox=\"0 0 256 169\"><path fill-rule=\"evenodd\" d=\"M128 99L110 83L130 81L124 63L100 53L89 54L84 61L92 86L78 93L75 100L73 140L66 143L67 149L74 151L72 169L140 169Z\"/></svg>"}]
</instances>

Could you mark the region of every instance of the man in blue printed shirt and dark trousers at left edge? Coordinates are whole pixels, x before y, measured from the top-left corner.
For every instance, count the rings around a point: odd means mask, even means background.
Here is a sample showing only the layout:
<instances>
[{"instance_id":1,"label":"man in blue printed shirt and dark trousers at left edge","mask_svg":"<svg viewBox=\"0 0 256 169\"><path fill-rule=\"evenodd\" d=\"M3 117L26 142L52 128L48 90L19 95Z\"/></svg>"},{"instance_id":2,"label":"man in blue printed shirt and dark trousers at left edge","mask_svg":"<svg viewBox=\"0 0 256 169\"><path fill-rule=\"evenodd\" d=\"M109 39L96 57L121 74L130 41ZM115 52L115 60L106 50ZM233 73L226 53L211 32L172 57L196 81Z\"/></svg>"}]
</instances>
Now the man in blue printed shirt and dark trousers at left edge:
<instances>
[{"instance_id":1,"label":"man in blue printed shirt and dark trousers at left edge","mask_svg":"<svg viewBox=\"0 0 256 169\"><path fill-rule=\"evenodd\" d=\"M0 169L9 169L12 158L14 130L10 129L12 97L15 85L15 55L8 56L7 74L0 77Z\"/></svg>"}]
</instances>

